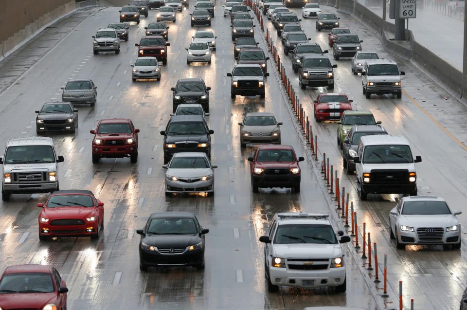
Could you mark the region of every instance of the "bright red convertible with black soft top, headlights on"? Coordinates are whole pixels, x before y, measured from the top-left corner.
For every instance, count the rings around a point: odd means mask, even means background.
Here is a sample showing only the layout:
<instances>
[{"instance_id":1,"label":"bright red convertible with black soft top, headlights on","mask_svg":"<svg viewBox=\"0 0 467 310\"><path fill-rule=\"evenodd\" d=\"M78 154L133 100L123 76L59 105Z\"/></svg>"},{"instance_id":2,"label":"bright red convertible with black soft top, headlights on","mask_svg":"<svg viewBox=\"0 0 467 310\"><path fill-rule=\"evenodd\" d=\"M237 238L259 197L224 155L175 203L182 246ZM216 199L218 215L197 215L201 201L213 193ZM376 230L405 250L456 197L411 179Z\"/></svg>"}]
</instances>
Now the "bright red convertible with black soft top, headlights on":
<instances>
[{"instance_id":1,"label":"bright red convertible with black soft top, headlights on","mask_svg":"<svg viewBox=\"0 0 467 310\"><path fill-rule=\"evenodd\" d=\"M104 229L104 203L88 190L54 191L47 202L37 203L39 240L50 237L98 239Z\"/></svg>"}]
</instances>

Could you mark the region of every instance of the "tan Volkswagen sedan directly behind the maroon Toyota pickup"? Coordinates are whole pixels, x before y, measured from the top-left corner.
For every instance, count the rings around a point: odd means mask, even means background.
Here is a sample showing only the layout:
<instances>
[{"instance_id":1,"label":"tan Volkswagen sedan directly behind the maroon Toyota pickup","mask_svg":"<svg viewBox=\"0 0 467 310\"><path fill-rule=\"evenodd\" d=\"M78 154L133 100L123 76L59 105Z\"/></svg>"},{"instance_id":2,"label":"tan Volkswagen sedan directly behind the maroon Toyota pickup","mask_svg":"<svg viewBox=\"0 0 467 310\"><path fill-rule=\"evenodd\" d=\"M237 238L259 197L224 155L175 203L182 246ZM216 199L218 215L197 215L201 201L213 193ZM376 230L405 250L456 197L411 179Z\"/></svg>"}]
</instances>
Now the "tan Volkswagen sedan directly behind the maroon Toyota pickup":
<instances>
[{"instance_id":1,"label":"tan Volkswagen sedan directly behind the maroon Toyota pickup","mask_svg":"<svg viewBox=\"0 0 467 310\"><path fill-rule=\"evenodd\" d=\"M269 112L247 113L240 125L240 146L247 144L281 144L281 129L274 114Z\"/></svg>"}]
</instances>

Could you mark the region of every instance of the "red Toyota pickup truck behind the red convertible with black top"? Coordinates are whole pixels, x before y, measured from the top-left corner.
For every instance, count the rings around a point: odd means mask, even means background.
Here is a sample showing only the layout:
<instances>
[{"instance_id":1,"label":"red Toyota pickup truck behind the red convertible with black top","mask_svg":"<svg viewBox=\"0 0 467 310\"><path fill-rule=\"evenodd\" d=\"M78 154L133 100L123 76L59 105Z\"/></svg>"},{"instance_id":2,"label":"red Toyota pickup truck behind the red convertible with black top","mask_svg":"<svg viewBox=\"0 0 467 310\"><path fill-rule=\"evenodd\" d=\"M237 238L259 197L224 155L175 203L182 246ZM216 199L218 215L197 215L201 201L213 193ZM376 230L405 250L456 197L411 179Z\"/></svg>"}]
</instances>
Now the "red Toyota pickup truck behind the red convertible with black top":
<instances>
[{"instance_id":1,"label":"red Toyota pickup truck behind the red convertible with black top","mask_svg":"<svg viewBox=\"0 0 467 310\"><path fill-rule=\"evenodd\" d=\"M138 132L128 118L111 118L99 121L90 133L92 139L92 163L101 158L129 157L132 163L138 161Z\"/></svg>"}]
</instances>

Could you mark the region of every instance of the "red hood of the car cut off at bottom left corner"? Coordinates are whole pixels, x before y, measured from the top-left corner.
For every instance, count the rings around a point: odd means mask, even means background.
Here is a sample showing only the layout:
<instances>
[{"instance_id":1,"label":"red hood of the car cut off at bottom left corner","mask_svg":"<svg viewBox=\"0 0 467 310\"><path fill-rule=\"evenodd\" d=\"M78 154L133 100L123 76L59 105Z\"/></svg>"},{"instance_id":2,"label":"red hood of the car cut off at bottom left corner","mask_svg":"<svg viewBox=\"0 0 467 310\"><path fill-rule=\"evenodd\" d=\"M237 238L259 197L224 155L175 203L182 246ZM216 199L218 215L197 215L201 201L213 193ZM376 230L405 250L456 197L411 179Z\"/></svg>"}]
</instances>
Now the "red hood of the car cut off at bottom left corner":
<instances>
[{"instance_id":1,"label":"red hood of the car cut off at bottom left corner","mask_svg":"<svg viewBox=\"0 0 467 310\"><path fill-rule=\"evenodd\" d=\"M56 293L13 293L0 294L2 309L42 309L48 303L54 303Z\"/></svg>"}]
</instances>

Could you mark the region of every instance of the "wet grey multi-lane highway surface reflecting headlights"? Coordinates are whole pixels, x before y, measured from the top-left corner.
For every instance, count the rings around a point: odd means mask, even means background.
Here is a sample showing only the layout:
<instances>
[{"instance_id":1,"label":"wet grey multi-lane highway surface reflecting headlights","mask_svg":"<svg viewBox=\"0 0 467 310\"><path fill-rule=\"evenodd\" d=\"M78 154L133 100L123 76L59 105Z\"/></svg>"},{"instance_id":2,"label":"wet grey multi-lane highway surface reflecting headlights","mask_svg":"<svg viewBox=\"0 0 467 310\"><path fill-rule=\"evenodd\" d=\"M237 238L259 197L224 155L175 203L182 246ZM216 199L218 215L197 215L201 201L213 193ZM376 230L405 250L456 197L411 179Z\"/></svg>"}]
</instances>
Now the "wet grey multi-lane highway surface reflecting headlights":
<instances>
[{"instance_id":1,"label":"wet grey multi-lane highway surface reflecting headlights","mask_svg":"<svg viewBox=\"0 0 467 310\"><path fill-rule=\"evenodd\" d=\"M192 6L190 6L190 11ZM325 8L333 11L334 8ZM308 151L297 134L277 75L269 63L266 99L240 97L230 99L230 80L226 73L234 65L230 19L222 17L221 3L216 5L212 29L217 37L217 50L211 65L185 62L185 50L194 29L189 24L189 12L177 13L177 23L170 23L171 46L168 64L162 68L162 81L131 81L131 67L137 49L134 43L144 35L144 26L155 20L155 11L142 18L139 25L130 26L130 40L122 42L120 55L92 55L92 36L99 27L118 20L118 8L92 8L80 11L49 29L47 36L37 37L27 49L1 65L16 75L2 73L0 95L0 145L11 137L35 136L35 113L43 102L61 99L60 87L69 78L90 77L98 89L95 108L77 106L79 130L72 135L54 135L59 155L60 188L89 189L105 203L105 231L98 241L89 238L63 238L39 242L37 236L36 203L44 202L46 194L17 195L0 206L1 266L24 263L52 264L67 281L68 308L100 309L302 309L305 306L348 305L374 309L383 299L378 296L372 278L363 272L364 261L353 246L344 245L347 256L347 293L336 294L333 289L281 289L268 293L263 270L263 235L268 220L277 212L313 211L329 213L334 202L326 193L322 176L314 161L305 160L302 168L302 193L289 190L261 190L252 194L247 157L252 147L240 150L239 126L243 115L253 111L271 111L282 126L282 142L294 146L301 156ZM265 19L266 21L266 19ZM266 23L269 25L269 22ZM302 25L308 36L325 49L327 32L316 33L314 20ZM341 26L349 26L364 40L364 50L382 51L371 31L358 21L341 16ZM199 27L207 29L208 27ZM270 28L271 29L271 28ZM265 48L256 29L256 39ZM280 43L277 44L280 48ZM22 54L19 54L22 53ZM394 58L386 55L388 58ZM36 55L36 59L30 56ZM331 54L332 55L332 52ZM287 74L294 77L290 61L282 54ZM32 61L32 67L26 60ZM335 61L333 61L335 63ZM389 97L367 100L361 95L359 77L350 73L349 61L337 62L336 90L354 99L359 109L371 109L383 126L394 134L409 138L413 152L422 155L417 166L420 194L438 194L455 209L466 211L465 171L467 147L465 120L467 109L452 99L442 99L445 92L409 63L399 61L407 75L402 100ZM23 66L24 65L24 66ZM28 69L29 68L29 69ZM4 72L10 72L4 69ZM22 75L21 75L22 74ZM11 75L11 76L10 76ZM18 76L17 82L14 82ZM177 79L202 77L212 87L211 116L208 123L215 133L212 162L217 164L214 197L190 195L165 197L162 169L162 136L172 110L170 88ZM298 80L292 82L307 114L311 100L325 89L300 91ZM434 106L435 105L435 106ZM91 163L90 143L94 128L102 118L128 117L140 128L140 156L137 164L128 159L104 159ZM336 146L337 125L312 121L319 135L320 152L331 157L331 163L341 172L340 153ZM450 135L449 135L450 134ZM454 140L454 139L457 140ZM359 213L360 224L366 221L372 238L378 242L380 256L389 258L389 293L394 297L398 280L404 280L404 301L415 298L416 309L456 309L462 295L466 275L464 250L442 251L441 247L408 247L395 250L389 242L387 220L397 195L369 196L359 202L353 188L354 177L342 176L343 185L350 190L351 200ZM192 211L201 225L209 228L206 236L206 270L191 268L138 269L139 236L147 217L157 211ZM465 224L467 215L461 215ZM337 217L334 217L334 221ZM336 222L336 221L335 221ZM336 228L341 222L336 222ZM361 254L360 254L361 255ZM381 260L381 259L380 259ZM381 286L379 286L381 287ZM390 299L395 300L395 299ZM391 308L392 305L388 304Z\"/></svg>"}]
</instances>

